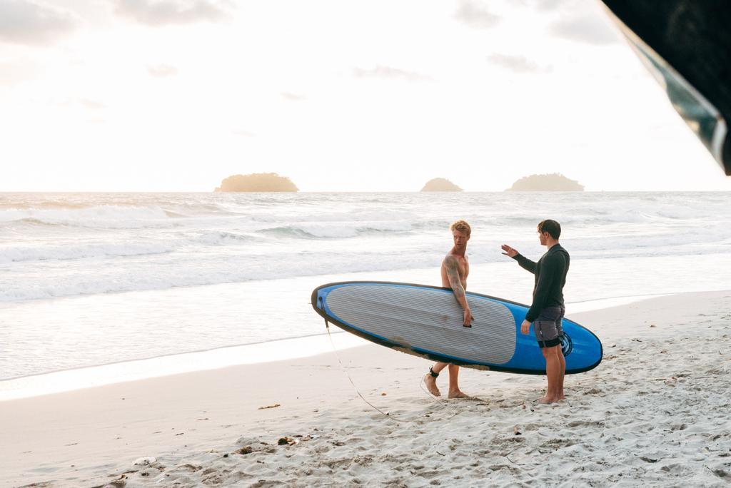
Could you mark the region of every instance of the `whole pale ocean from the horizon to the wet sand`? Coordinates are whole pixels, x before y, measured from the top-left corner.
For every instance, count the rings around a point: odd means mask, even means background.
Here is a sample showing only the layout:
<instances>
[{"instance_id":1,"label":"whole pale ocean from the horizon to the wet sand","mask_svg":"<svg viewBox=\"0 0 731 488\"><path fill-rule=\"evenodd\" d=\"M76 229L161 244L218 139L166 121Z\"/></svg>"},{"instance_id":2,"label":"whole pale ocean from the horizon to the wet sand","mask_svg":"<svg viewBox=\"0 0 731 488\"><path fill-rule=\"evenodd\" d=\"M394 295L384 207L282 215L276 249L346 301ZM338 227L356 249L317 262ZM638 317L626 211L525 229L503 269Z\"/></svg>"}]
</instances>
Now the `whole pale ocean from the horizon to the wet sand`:
<instances>
[{"instance_id":1,"label":"whole pale ocean from the horizon to the wet sand","mask_svg":"<svg viewBox=\"0 0 731 488\"><path fill-rule=\"evenodd\" d=\"M570 303L731 289L731 194L0 194L0 379L323 332L311 289L439 284L473 228L469 289L526 302L555 218ZM587 324L590 327L590 324Z\"/></svg>"}]
</instances>

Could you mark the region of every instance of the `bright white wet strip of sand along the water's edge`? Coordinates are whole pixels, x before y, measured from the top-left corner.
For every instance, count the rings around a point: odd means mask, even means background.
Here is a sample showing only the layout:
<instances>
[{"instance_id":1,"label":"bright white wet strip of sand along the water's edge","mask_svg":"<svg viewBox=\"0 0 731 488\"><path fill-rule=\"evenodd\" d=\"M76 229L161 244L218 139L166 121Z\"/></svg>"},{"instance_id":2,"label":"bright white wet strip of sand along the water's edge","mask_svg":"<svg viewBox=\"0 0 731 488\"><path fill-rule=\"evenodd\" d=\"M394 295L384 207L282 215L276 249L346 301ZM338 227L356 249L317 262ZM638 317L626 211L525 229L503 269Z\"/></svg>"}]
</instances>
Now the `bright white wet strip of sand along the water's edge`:
<instances>
[{"instance_id":1,"label":"bright white wet strip of sand along the water's edge","mask_svg":"<svg viewBox=\"0 0 731 488\"><path fill-rule=\"evenodd\" d=\"M575 313L628 305L663 296L667 296L667 294L612 297L573 302L567 305L570 305L573 316ZM591 327L588 328L591 329ZM338 327L333 327L331 333L338 350L368 344L367 340L357 338ZM328 351L332 351L332 346L327 340L327 334L323 332L296 338L266 340L182 354L164 354L132 361L56 370L1 380L0 402L221 367L311 357L325 354Z\"/></svg>"}]
</instances>

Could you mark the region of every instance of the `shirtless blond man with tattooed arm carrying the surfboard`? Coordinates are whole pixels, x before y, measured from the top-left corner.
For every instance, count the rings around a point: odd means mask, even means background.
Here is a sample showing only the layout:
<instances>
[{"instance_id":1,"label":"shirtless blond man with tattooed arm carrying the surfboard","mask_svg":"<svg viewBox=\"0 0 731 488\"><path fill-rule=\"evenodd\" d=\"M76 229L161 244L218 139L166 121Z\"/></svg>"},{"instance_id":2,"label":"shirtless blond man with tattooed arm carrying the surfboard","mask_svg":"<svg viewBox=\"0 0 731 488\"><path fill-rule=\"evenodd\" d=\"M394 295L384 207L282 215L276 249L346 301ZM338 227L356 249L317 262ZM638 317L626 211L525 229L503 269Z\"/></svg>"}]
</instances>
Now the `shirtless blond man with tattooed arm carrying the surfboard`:
<instances>
[{"instance_id":1,"label":"shirtless blond man with tattooed arm carrying the surfboard","mask_svg":"<svg viewBox=\"0 0 731 488\"><path fill-rule=\"evenodd\" d=\"M444 257L444 261L442 262L442 286L451 288L455 294L455 299L462 306L463 327L472 327L473 317L465 296L467 275L469 275L469 261L467 260L465 251L467 250L467 241L469 240L472 229L465 221L455 221L450 226L450 229L452 230L455 245L447 253L447 256ZM447 396L449 398L469 398L469 395L464 394L459 389L459 366L450 365L446 362L438 362L429 368L429 373L424 377L424 383L429 392L435 397L439 397L441 394L439 388L436 387L436 377L439 376L439 372L444 367L449 367L450 372L450 391Z\"/></svg>"}]
</instances>

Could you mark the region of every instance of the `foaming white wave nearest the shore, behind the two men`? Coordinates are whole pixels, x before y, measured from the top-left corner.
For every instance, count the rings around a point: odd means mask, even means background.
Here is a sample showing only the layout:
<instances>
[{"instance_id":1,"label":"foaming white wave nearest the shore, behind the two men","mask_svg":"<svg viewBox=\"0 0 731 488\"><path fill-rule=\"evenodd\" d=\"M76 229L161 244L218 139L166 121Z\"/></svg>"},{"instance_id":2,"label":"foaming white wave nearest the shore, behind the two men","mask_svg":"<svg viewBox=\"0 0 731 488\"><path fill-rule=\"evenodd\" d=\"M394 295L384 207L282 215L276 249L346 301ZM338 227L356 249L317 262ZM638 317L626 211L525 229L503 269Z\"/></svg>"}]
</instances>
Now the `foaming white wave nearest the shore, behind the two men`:
<instances>
[{"instance_id":1,"label":"foaming white wave nearest the shore, behind the two men","mask_svg":"<svg viewBox=\"0 0 731 488\"><path fill-rule=\"evenodd\" d=\"M439 252L424 249L395 248L380 253L350 253L346 251L324 253L322 251L308 253L279 253L277 256L252 256L223 252L218 256L208 256L205 262L191 256L175 254L163 255L154 259L129 260L124 266L94 266L94 272L72 272L66 268L42 267L42 263L31 267L31 264L19 264L7 268L7 285L0 288L0 302L23 302L26 300L43 300L77 295L120 293L126 291L164 290L183 286L208 286L224 283L244 283L250 281L270 281L304 276L327 274L344 276L357 272L383 272L385 276L397 270L431 269L433 277L438 277L439 263L444 258L447 246L439 248ZM501 256L499 248L482 249L470 254L473 265L496 263L501 266L514 266L510 260ZM702 256L727 262L728 251L718 252L711 249L696 250L692 259L686 259L687 253L677 250L648 250L644 253L619 253L610 251L597 255L595 253L572 252L572 270L587 268L599 270L607 267L607 259L618 259L615 274L600 273L600 279L616 280L616 270L633 266L640 258L659 258L656 265L663 266L667 259L684 259L690 269L694 262ZM530 252L528 253L531 254ZM531 255L536 259L539 255ZM712 256L718 256L712 257ZM706 257L705 261L709 261ZM597 264L594 264L597 263ZM626 264L624 264L626 263ZM22 268L21 268L22 267ZM477 268L476 268L477 269ZM29 271L31 270L31 271ZM475 275L475 279L480 273ZM23 279L19 279L19 278ZM331 278L328 278L331 279ZM488 279L488 278L483 278ZM649 278L648 278L649 279ZM332 281L332 280L331 280ZM527 282L526 282L527 283Z\"/></svg>"}]
</instances>

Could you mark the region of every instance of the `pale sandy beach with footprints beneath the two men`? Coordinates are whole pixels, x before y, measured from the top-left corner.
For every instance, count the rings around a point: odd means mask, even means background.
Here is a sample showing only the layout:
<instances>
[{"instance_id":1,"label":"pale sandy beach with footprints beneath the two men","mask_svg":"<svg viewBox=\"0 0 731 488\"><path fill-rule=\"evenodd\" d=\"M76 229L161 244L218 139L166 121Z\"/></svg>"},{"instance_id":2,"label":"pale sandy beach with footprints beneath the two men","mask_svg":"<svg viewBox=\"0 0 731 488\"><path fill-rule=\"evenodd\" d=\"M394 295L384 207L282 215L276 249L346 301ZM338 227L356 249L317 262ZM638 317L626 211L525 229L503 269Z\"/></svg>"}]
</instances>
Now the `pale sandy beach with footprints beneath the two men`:
<instances>
[{"instance_id":1,"label":"pale sandy beach with footprints beneath the two men","mask_svg":"<svg viewBox=\"0 0 731 488\"><path fill-rule=\"evenodd\" d=\"M374 345L338 355L389 416L333 353L7 400L0 484L725 486L730 310L731 291L569 310L605 357L553 405L545 377L469 369L479 400L435 399L429 362Z\"/></svg>"}]
</instances>

